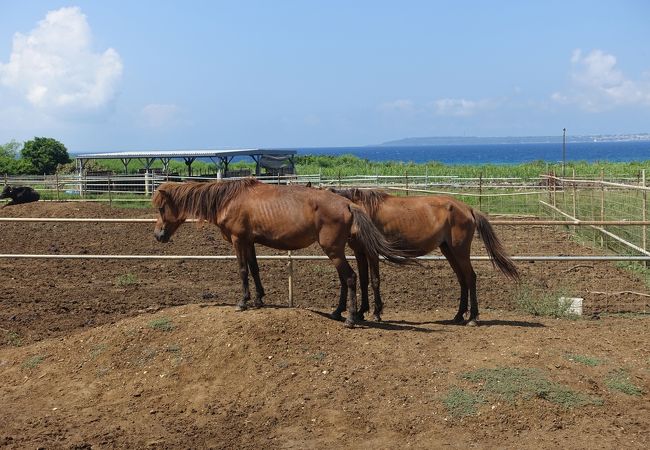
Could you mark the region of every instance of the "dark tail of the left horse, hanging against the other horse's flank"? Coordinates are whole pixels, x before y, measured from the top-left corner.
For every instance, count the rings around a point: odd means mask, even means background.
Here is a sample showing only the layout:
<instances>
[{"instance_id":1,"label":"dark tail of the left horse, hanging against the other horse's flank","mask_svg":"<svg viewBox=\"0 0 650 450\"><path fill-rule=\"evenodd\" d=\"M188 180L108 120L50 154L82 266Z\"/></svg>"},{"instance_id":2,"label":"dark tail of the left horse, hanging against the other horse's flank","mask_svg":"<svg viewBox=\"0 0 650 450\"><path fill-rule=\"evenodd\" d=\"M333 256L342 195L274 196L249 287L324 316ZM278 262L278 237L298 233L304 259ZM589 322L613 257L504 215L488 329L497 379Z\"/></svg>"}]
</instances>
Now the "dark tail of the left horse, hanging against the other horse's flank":
<instances>
[{"instance_id":1,"label":"dark tail of the left horse, hanging against the other horse's flank","mask_svg":"<svg viewBox=\"0 0 650 450\"><path fill-rule=\"evenodd\" d=\"M361 244L369 258L379 259L379 256L383 256L387 262L397 265L418 264L408 252L395 248L361 207L350 203L349 208L352 213L352 238Z\"/></svg>"}]
</instances>

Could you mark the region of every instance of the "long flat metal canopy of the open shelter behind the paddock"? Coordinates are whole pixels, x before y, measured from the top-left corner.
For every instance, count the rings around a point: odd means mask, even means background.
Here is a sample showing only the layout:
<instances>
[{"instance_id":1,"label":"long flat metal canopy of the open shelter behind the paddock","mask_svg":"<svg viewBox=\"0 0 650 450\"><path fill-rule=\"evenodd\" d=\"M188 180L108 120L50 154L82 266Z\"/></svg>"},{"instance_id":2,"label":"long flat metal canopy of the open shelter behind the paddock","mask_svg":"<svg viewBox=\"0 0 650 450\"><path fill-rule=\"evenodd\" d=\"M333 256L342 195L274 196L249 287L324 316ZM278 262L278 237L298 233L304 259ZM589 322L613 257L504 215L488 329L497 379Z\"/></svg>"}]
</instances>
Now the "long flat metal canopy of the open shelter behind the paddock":
<instances>
[{"instance_id":1,"label":"long flat metal canopy of the open shelter behind the paddock","mask_svg":"<svg viewBox=\"0 0 650 450\"><path fill-rule=\"evenodd\" d=\"M192 175L192 163L196 158L209 158L212 162L219 160L224 171L228 170L228 164L236 156L250 156L255 161L255 175L260 174L260 159L262 156L287 156L293 163L293 155L296 150L269 149L269 148L240 148L231 150L164 150L164 151L133 151L133 152L111 152L111 153L85 153L77 155L77 167L83 171L86 163L91 159L119 159L124 164L124 171L128 171L128 165L133 159L145 161L145 168L148 170L156 159L163 163L165 171L169 167L169 161L173 158L183 159L187 165L190 176Z\"/></svg>"}]
</instances>

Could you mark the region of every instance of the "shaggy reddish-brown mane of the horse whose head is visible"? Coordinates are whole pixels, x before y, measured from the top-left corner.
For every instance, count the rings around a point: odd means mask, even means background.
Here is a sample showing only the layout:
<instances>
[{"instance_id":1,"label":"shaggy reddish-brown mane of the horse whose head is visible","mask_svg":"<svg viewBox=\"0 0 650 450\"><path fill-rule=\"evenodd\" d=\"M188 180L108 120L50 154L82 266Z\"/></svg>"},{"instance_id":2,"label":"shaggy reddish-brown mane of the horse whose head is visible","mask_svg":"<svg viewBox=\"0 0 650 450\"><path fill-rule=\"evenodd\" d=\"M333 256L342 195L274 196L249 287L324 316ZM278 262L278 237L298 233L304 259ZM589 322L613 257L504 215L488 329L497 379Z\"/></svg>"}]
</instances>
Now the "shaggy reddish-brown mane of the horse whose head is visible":
<instances>
[{"instance_id":1,"label":"shaggy reddish-brown mane of the horse whose head is visible","mask_svg":"<svg viewBox=\"0 0 650 450\"><path fill-rule=\"evenodd\" d=\"M199 220L215 222L217 211L257 184L260 182L255 178L210 183L167 182L160 185L151 202L156 208L160 208L169 201L177 209L179 216L191 216Z\"/></svg>"}]
</instances>

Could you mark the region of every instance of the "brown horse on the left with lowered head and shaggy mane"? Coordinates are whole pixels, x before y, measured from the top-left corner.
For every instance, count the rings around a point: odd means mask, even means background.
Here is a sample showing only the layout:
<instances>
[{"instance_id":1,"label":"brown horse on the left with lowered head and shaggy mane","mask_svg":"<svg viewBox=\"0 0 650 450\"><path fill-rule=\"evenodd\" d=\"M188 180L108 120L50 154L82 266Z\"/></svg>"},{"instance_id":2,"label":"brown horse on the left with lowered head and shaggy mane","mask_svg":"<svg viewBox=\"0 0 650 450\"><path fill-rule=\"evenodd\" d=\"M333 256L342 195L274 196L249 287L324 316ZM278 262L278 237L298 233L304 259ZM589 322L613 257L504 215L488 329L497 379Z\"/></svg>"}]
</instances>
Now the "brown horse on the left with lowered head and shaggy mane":
<instances>
[{"instance_id":1,"label":"brown horse on the left with lowered head and shaggy mane","mask_svg":"<svg viewBox=\"0 0 650 450\"><path fill-rule=\"evenodd\" d=\"M356 318L356 274L345 259L347 242L355 253L373 263L383 256L388 261L408 262L392 248L362 208L329 191L303 186L277 186L253 178L211 183L163 183L155 192L153 205L159 217L154 234L168 242L178 227L190 217L215 224L224 239L232 243L244 296L238 303L247 308L251 294L249 270L255 282L255 306L263 306L264 288L259 276L255 244L281 250L297 250L318 242L336 266L341 282L339 305L332 314L340 319L349 302L346 326Z\"/></svg>"}]
</instances>

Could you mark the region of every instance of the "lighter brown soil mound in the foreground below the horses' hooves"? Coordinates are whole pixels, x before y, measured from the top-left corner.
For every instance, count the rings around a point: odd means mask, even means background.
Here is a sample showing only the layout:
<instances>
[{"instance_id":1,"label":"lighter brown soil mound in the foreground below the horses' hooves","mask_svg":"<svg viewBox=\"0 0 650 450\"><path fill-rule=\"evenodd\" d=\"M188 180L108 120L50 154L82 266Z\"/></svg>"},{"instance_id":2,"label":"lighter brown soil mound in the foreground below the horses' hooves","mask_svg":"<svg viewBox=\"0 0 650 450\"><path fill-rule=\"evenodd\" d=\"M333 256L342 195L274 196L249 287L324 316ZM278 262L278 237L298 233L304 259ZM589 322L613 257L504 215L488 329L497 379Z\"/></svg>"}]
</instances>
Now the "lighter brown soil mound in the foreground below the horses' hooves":
<instances>
[{"instance_id":1,"label":"lighter brown soil mound in the foreground below the horses' hooves","mask_svg":"<svg viewBox=\"0 0 650 450\"><path fill-rule=\"evenodd\" d=\"M479 328L453 311L348 330L317 311L188 305L0 352L0 445L156 448L642 448L647 319L530 320ZM589 366L570 355L598 359ZM446 402L479 368L535 368L592 404L485 396ZM85 447L84 447L85 446Z\"/></svg>"}]
</instances>

